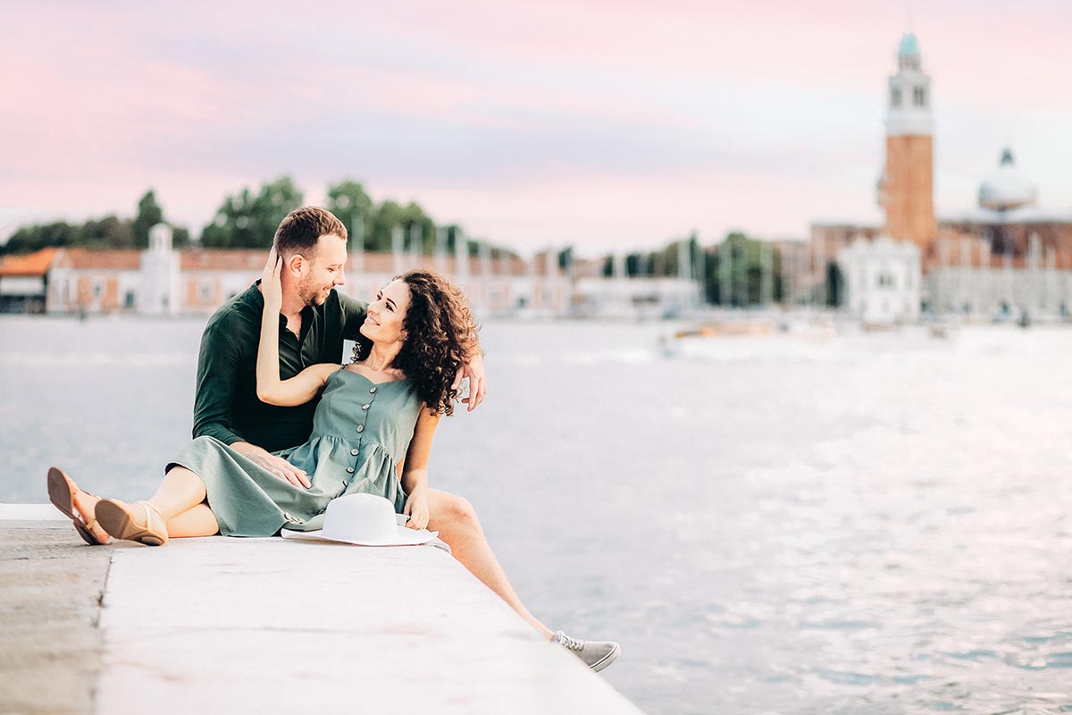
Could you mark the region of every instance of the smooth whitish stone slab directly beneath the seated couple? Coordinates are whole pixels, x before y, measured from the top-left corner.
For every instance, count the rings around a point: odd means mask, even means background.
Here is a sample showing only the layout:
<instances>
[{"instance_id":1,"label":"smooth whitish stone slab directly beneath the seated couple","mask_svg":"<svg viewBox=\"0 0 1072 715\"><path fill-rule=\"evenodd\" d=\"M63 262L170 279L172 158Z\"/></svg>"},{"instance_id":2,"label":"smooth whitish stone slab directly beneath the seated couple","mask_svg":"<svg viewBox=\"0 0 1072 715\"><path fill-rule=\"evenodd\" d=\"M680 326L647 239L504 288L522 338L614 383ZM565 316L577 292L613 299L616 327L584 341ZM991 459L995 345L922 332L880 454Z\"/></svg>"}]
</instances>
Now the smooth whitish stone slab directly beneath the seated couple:
<instances>
[{"instance_id":1,"label":"smooth whitish stone slab directly beneath the seated couple","mask_svg":"<svg viewBox=\"0 0 1072 715\"><path fill-rule=\"evenodd\" d=\"M444 551L114 550L100 713L636 713Z\"/></svg>"}]
</instances>

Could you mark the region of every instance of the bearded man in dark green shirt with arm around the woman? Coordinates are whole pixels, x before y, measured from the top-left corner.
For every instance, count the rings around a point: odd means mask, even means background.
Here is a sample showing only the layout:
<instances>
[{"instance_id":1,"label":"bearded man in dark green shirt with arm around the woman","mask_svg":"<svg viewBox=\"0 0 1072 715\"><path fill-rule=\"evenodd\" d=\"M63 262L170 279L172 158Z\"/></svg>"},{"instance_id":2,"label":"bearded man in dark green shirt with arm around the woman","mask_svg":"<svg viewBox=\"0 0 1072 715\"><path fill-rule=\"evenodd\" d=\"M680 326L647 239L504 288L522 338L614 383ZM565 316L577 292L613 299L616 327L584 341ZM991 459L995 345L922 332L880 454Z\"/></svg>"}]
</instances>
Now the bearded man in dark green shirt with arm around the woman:
<instances>
[{"instance_id":1,"label":"bearded man in dark green shirt with arm around the woman","mask_svg":"<svg viewBox=\"0 0 1072 715\"><path fill-rule=\"evenodd\" d=\"M358 328L364 321L366 304L336 291L345 283L346 227L331 212L308 206L292 211L279 225L274 244L283 259L280 376L287 379L310 364L338 362L343 340L363 341ZM205 327L197 360L193 434L215 437L281 479L309 488L301 470L271 452L309 438L316 400L298 407L279 407L257 399L256 357L263 312L264 297L255 284L224 303ZM470 393L462 402L473 411L486 393L479 353L462 367L457 383L464 377L468 377ZM593 670L613 662L619 653L616 643L572 639L537 621L513 592L488 546L473 506L444 491L428 492L428 528L440 532L440 538L465 568L545 637L575 652Z\"/></svg>"}]
</instances>

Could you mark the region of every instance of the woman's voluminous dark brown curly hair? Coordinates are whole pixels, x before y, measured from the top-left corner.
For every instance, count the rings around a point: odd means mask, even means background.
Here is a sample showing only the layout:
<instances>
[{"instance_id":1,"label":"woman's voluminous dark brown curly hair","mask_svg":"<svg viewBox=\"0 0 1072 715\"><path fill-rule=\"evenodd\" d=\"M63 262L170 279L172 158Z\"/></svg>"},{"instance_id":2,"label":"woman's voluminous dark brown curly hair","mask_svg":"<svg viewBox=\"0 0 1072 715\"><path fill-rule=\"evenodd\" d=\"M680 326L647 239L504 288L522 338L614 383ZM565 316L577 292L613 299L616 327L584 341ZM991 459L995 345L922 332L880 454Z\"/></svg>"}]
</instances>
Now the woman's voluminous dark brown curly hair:
<instances>
[{"instance_id":1,"label":"woman's voluminous dark brown curly hair","mask_svg":"<svg viewBox=\"0 0 1072 715\"><path fill-rule=\"evenodd\" d=\"M432 270L417 268L396 275L410 287L402 319L406 339L391 362L417 386L417 396L437 415L452 415L458 369L479 352L476 324L460 288ZM354 345L354 359L368 348ZM481 353L482 354L482 353Z\"/></svg>"}]
</instances>

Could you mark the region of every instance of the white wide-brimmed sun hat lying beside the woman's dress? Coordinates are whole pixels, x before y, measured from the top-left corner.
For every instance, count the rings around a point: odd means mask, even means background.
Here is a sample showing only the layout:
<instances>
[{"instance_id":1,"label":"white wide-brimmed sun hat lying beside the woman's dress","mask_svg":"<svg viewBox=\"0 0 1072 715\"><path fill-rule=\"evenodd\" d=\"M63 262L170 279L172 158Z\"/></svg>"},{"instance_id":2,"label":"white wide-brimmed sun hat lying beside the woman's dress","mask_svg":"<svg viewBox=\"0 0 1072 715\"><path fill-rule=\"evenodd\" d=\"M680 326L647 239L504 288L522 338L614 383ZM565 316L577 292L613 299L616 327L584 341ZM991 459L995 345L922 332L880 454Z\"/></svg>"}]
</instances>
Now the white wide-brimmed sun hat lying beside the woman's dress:
<instances>
[{"instance_id":1,"label":"white wide-brimmed sun hat lying beside the woman's dress","mask_svg":"<svg viewBox=\"0 0 1072 715\"><path fill-rule=\"evenodd\" d=\"M283 530L283 538L300 541L338 541L364 547L402 547L428 543L438 532L406 528L405 515L375 494L346 494L328 502L324 528L317 532Z\"/></svg>"}]
</instances>

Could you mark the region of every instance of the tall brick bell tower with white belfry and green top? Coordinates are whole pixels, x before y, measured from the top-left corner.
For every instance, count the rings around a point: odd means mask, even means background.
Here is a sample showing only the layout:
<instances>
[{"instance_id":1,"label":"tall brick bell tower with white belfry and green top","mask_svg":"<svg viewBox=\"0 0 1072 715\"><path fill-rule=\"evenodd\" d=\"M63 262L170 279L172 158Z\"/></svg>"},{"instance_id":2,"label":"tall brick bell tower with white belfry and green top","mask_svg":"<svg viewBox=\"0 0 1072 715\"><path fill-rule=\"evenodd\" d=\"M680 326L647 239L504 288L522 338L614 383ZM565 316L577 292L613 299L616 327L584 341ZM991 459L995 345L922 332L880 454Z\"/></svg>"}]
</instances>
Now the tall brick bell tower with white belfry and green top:
<instances>
[{"instance_id":1,"label":"tall brick bell tower with white belfry and green top","mask_svg":"<svg viewBox=\"0 0 1072 715\"><path fill-rule=\"evenodd\" d=\"M885 233L909 240L926 256L938 233L934 206L934 120L930 77L923 74L920 43L911 32L900 40L897 74L890 77L885 120L885 170L878 203L885 210Z\"/></svg>"}]
</instances>

